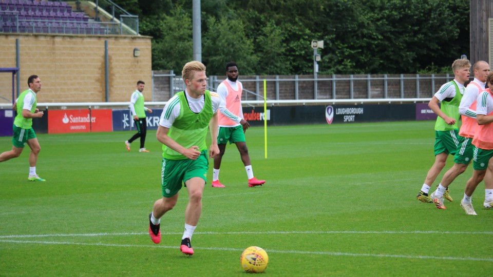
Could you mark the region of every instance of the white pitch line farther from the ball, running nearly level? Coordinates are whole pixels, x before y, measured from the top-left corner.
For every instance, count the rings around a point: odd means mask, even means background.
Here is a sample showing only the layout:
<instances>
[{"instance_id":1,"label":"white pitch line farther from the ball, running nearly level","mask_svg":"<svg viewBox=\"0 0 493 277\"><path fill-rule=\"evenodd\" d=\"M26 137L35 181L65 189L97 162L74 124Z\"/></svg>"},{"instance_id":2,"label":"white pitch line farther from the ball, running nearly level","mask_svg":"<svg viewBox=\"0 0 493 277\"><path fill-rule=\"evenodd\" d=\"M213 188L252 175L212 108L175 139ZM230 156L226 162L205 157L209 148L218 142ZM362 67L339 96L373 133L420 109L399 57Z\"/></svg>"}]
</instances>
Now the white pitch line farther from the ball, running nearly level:
<instances>
[{"instance_id":1,"label":"white pitch line farther from the ball, running nearly level","mask_svg":"<svg viewBox=\"0 0 493 277\"><path fill-rule=\"evenodd\" d=\"M147 235L148 232L129 233L87 233L87 234L37 234L37 235L0 235L0 239L13 238L47 238L66 236L104 236L104 235ZM161 232L162 235L176 235L182 233ZM451 231L266 231L266 232L194 232L194 234L493 234L485 232L451 232Z\"/></svg>"}]
</instances>

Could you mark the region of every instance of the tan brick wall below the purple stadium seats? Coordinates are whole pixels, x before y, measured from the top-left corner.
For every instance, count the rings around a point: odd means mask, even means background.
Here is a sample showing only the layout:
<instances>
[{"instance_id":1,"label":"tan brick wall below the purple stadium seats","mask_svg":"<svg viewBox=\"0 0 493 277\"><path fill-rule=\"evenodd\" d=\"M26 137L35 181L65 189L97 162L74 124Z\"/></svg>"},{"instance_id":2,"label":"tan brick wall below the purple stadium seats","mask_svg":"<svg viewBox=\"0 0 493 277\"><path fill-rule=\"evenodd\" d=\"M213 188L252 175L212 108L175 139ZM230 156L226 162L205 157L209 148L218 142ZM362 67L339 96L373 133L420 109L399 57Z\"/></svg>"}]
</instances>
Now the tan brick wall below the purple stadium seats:
<instances>
[{"instance_id":1,"label":"tan brick wall below the purple stadium seats","mask_svg":"<svg viewBox=\"0 0 493 277\"><path fill-rule=\"evenodd\" d=\"M0 67L16 67L15 41L20 41L20 91L27 78L40 76L38 102L105 102L104 44L108 41L109 102L125 102L138 80L152 94L151 37L50 34L0 34ZM134 57L134 48L140 56ZM16 84L14 84L16 85ZM12 98L12 75L0 74L0 96ZM0 98L0 103L7 103Z\"/></svg>"}]
</instances>

